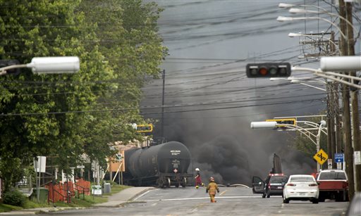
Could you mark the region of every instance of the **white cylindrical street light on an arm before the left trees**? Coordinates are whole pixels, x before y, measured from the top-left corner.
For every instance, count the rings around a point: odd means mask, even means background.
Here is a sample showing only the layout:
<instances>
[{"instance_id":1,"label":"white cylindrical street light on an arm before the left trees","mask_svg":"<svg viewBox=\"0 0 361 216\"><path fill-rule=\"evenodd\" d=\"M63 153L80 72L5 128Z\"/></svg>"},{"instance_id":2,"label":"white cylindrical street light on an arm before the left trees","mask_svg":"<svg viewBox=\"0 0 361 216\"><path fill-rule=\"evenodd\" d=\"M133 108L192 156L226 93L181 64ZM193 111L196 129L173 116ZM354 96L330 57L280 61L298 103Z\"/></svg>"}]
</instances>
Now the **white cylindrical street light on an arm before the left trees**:
<instances>
[{"instance_id":1,"label":"white cylindrical street light on an arm before the left trees","mask_svg":"<svg viewBox=\"0 0 361 216\"><path fill-rule=\"evenodd\" d=\"M0 68L0 76L6 75L7 70L14 68L31 68L35 74L74 73L80 70L80 60L78 56L35 57L27 64Z\"/></svg>"}]
</instances>

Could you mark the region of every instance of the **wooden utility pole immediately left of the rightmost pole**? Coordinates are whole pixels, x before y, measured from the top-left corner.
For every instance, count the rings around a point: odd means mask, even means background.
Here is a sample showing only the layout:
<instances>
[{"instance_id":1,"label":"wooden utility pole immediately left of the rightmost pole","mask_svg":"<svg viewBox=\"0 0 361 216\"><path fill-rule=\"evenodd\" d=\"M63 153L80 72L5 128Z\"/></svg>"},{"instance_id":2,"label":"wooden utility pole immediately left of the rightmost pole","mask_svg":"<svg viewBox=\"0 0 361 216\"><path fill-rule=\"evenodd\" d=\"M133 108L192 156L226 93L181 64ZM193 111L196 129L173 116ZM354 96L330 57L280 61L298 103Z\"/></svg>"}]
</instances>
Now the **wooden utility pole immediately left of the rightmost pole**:
<instances>
[{"instance_id":1,"label":"wooden utility pole immediately left of the rightmost pole","mask_svg":"<svg viewBox=\"0 0 361 216\"><path fill-rule=\"evenodd\" d=\"M339 4L339 15L343 18L346 16L345 12L345 2L343 0L338 0ZM346 32L346 22L344 19L340 19L340 29L342 32ZM341 37L340 41L340 50L342 56L348 56L348 46L346 40ZM348 72L344 72L345 75L348 75ZM343 97L343 140L345 144L345 171L348 174L348 185L349 185L349 196L350 200L355 194L355 182L353 178L353 146L351 139L351 122L350 122L350 89L348 85L342 85L342 97ZM358 112L357 112L358 113Z\"/></svg>"}]
</instances>

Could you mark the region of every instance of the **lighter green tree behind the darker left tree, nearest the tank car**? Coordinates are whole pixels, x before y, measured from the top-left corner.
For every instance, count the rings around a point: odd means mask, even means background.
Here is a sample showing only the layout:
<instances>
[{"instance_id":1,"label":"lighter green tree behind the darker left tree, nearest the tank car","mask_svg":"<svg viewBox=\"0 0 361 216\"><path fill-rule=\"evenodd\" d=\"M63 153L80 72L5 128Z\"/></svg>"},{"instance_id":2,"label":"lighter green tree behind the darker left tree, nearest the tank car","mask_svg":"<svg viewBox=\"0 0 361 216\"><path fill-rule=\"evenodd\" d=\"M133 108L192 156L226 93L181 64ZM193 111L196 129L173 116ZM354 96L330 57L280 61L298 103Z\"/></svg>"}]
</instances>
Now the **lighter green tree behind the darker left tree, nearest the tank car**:
<instances>
[{"instance_id":1,"label":"lighter green tree behind the darker left tree, nearest the tank car","mask_svg":"<svg viewBox=\"0 0 361 216\"><path fill-rule=\"evenodd\" d=\"M97 10L94 10L97 8ZM87 133L85 151L92 160L104 158L97 151L102 140L126 141L142 139L135 134L129 123L143 123L139 114L142 96L141 87L147 77L159 75L159 65L166 54L161 45L162 39L157 34L157 19L161 9L154 3L142 4L139 0L126 1L82 1L79 7L86 15L87 25L97 25L97 45L104 56L104 61L114 70L111 94L104 94L98 100L102 109L119 108L112 113L97 113L92 116L99 125L92 126ZM104 120L106 119L106 120ZM102 124L104 122L104 124ZM94 129L104 131L103 137L93 133ZM93 137L97 134L97 137ZM105 166L105 161L99 161Z\"/></svg>"}]
</instances>

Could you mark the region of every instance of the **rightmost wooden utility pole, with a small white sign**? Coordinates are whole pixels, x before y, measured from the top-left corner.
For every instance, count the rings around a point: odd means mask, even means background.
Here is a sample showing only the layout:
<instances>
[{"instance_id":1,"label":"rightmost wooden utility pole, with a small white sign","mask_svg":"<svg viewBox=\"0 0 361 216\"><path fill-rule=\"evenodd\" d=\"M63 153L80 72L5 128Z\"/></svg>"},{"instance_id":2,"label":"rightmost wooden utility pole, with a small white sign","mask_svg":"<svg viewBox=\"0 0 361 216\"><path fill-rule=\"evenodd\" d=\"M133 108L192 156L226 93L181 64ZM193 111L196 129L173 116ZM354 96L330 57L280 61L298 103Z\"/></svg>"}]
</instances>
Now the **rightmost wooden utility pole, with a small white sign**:
<instances>
[{"instance_id":1,"label":"rightmost wooden utility pole, with a small white sign","mask_svg":"<svg viewBox=\"0 0 361 216\"><path fill-rule=\"evenodd\" d=\"M353 24L353 6L350 2L345 3L346 16L350 24ZM348 56L355 56L355 41L353 39L353 26L347 25L348 35ZM351 71L350 75L356 76L355 71ZM355 152L361 151L360 144L360 117L358 114L358 91L357 89L351 88L351 108L352 108L352 119L353 119L353 150ZM355 164L355 191L361 191L361 165Z\"/></svg>"}]
</instances>

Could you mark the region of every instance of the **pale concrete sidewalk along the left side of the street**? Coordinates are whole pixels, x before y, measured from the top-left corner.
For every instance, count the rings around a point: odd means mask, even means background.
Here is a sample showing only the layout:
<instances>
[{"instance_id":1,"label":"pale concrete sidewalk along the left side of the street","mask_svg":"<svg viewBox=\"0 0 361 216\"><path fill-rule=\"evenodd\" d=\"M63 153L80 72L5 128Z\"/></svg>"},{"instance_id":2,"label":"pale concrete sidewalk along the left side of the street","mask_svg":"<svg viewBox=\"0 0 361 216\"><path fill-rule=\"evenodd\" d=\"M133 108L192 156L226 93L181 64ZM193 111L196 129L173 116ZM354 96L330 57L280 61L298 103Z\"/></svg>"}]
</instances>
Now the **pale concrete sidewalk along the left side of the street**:
<instances>
[{"instance_id":1,"label":"pale concrete sidewalk along the left side of the street","mask_svg":"<svg viewBox=\"0 0 361 216\"><path fill-rule=\"evenodd\" d=\"M131 202L137 196L140 196L146 191L155 189L152 186L135 186L128 189L124 189L119 193L115 193L108 197L106 203L97 203L93 207L117 207L123 205L124 203ZM13 210L11 212L0 212L0 215L36 215L39 212L56 212L60 210L69 210L69 209L83 209L83 207L49 207L49 208L30 208L23 210Z\"/></svg>"}]
</instances>

